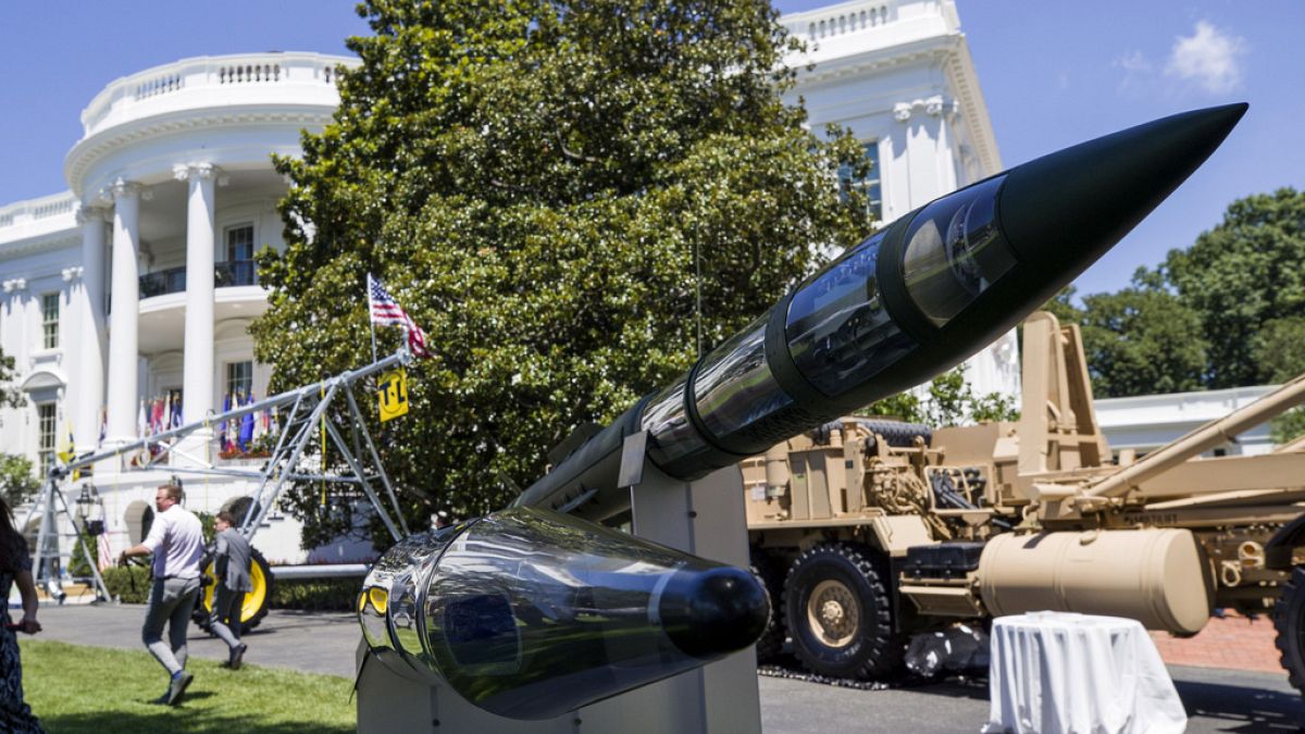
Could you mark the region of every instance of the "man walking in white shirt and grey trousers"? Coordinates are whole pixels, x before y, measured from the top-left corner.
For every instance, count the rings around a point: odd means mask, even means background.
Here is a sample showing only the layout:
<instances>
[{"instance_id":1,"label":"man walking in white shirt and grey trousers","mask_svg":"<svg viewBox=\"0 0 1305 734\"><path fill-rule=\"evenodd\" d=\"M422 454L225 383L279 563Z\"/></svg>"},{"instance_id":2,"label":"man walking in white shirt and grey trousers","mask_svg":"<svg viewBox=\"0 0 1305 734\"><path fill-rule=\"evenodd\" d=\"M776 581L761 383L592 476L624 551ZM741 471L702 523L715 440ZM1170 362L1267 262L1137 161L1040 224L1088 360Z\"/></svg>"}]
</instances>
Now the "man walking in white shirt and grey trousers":
<instances>
[{"instance_id":1,"label":"man walking in white shirt and grey trousers","mask_svg":"<svg viewBox=\"0 0 1305 734\"><path fill-rule=\"evenodd\" d=\"M181 487L163 485L154 492L154 524L137 546L123 551L119 563L130 556L154 554L154 588L145 613L141 639L145 646L168 671L172 680L158 700L176 705L194 679L185 670L185 632L191 611L200 596L200 560L204 558L204 528L200 519L181 507ZM168 626L168 643L163 643L163 626Z\"/></svg>"}]
</instances>

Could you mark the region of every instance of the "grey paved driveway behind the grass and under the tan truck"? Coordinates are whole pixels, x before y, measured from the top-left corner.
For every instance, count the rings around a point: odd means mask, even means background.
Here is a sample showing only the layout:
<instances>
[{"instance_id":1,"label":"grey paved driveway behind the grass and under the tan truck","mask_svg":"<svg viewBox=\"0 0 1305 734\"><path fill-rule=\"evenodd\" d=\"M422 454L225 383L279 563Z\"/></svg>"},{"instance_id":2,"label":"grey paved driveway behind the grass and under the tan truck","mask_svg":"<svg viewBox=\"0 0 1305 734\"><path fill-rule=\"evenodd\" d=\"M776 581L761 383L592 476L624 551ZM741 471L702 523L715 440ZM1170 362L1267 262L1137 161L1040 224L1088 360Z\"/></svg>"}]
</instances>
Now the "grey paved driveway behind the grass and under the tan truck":
<instances>
[{"instance_id":1,"label":"grey paved driveway behind the grass and under the tan truck","mask_svg":"<svg viewBox=\"0 0 1305 734\"><path fill-rule=\"evenodd\" d=\"M144 649L145 607L76 606L40 611L43 639ZM245 661L354 675L359 631L354 615L271 611L247 637ZM226 660L226 645L192 627L191 654ZM1305 704L1275 673L1169 666L1188 714L1188 731L1305 731ZM977 731L988 716L981 680L949 680L912 688L856 691L801 680L761 678L761 718L767 734L859 731Z\"/></svg>"}]
</instances>

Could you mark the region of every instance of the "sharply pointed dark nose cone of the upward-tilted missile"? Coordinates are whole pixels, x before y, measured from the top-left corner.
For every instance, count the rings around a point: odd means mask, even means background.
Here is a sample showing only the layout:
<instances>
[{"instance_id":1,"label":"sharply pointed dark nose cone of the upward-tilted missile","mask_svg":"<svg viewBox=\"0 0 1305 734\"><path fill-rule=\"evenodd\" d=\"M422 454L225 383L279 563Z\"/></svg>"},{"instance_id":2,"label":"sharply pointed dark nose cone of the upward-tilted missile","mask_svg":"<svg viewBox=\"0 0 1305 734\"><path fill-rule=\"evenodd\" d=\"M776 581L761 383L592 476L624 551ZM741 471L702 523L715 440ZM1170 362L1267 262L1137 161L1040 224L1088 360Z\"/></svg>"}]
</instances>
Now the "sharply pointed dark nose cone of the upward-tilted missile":
<instances>
[{"instance_id":1,"label":"sharply pointed dark nose cone of the upward-tilted missile","mask_svg":"<svg viewBox=\"0 0 1305 734\"><path fill-rule=\"evenodd\" d=\"M1021 263L1081 273L1191 175L1246 108L1161 118L1011 168L998 215Z\"/></svg>"}]
</instances>

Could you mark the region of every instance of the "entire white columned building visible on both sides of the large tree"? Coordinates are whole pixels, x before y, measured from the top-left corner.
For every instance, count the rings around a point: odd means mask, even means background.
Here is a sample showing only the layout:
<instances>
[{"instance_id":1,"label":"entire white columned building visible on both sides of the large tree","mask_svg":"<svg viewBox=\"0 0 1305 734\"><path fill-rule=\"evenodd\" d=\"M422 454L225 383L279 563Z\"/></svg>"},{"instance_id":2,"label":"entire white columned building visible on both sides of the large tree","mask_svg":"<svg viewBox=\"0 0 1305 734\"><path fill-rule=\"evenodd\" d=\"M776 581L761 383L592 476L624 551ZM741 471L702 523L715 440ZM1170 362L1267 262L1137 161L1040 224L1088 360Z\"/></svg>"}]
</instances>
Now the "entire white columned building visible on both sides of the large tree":
<instances>
[{"instance_id":1,"label":"entire white columned building visible on both sides of the large tree","mask_svg":"<svg viewBox=\"0 0 1305 734\"><path fill-rule=\"evenodd\" d=\"M951 0L846 3L783 24L809 43L792 59L804 67L792 94L813 129L838 123L864 141L876 170L848 183L870 192L882 221L1001 168ZM3 451L47 466L69 434L78 451L123 445L142 422L201 421L228 396L266 394L247 328L266 308L253 252L284 247L286 183L270 154L300 154L300 131L330 120L338 64L356 60L196 57L112 81L70 141L69 191L0 204L0 347L27 397L0 414ZM1018 394L1013 334L970 364L977 392ZM215 432L189 451L223 461ZM168 475L166 461L147 473L97 466L115 551L140 541ZM192 508L214 512L249 487L214 477L187 491ZM273 512L273 524L256 545L273 562L303 560L296 522Z\"/></svg>"}]
</instances>

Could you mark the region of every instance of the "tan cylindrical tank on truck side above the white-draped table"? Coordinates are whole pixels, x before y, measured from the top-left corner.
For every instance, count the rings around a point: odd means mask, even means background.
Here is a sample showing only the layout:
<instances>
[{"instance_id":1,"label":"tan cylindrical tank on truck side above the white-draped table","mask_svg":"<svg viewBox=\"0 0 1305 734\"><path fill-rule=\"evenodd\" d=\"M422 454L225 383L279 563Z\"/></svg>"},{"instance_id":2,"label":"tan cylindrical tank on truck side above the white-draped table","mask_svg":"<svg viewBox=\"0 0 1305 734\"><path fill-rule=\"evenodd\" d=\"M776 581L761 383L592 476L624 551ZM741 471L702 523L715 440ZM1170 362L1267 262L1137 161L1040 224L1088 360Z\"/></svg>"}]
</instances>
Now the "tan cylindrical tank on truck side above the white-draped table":
<instances>
[{"instance_id":1,"label":"tan cylindrical tank on truck side above the white-draped table","mask_svg":"<svg viewBox=\"0 0 1305 734\"><path fill-rule=\"evenodd\" d=\"M979 559L993 616L1053 610L1137 619L1148 630L1194 633L1212 603L1190 530L1001 534Z\"/></svg>"}]
</instances>

